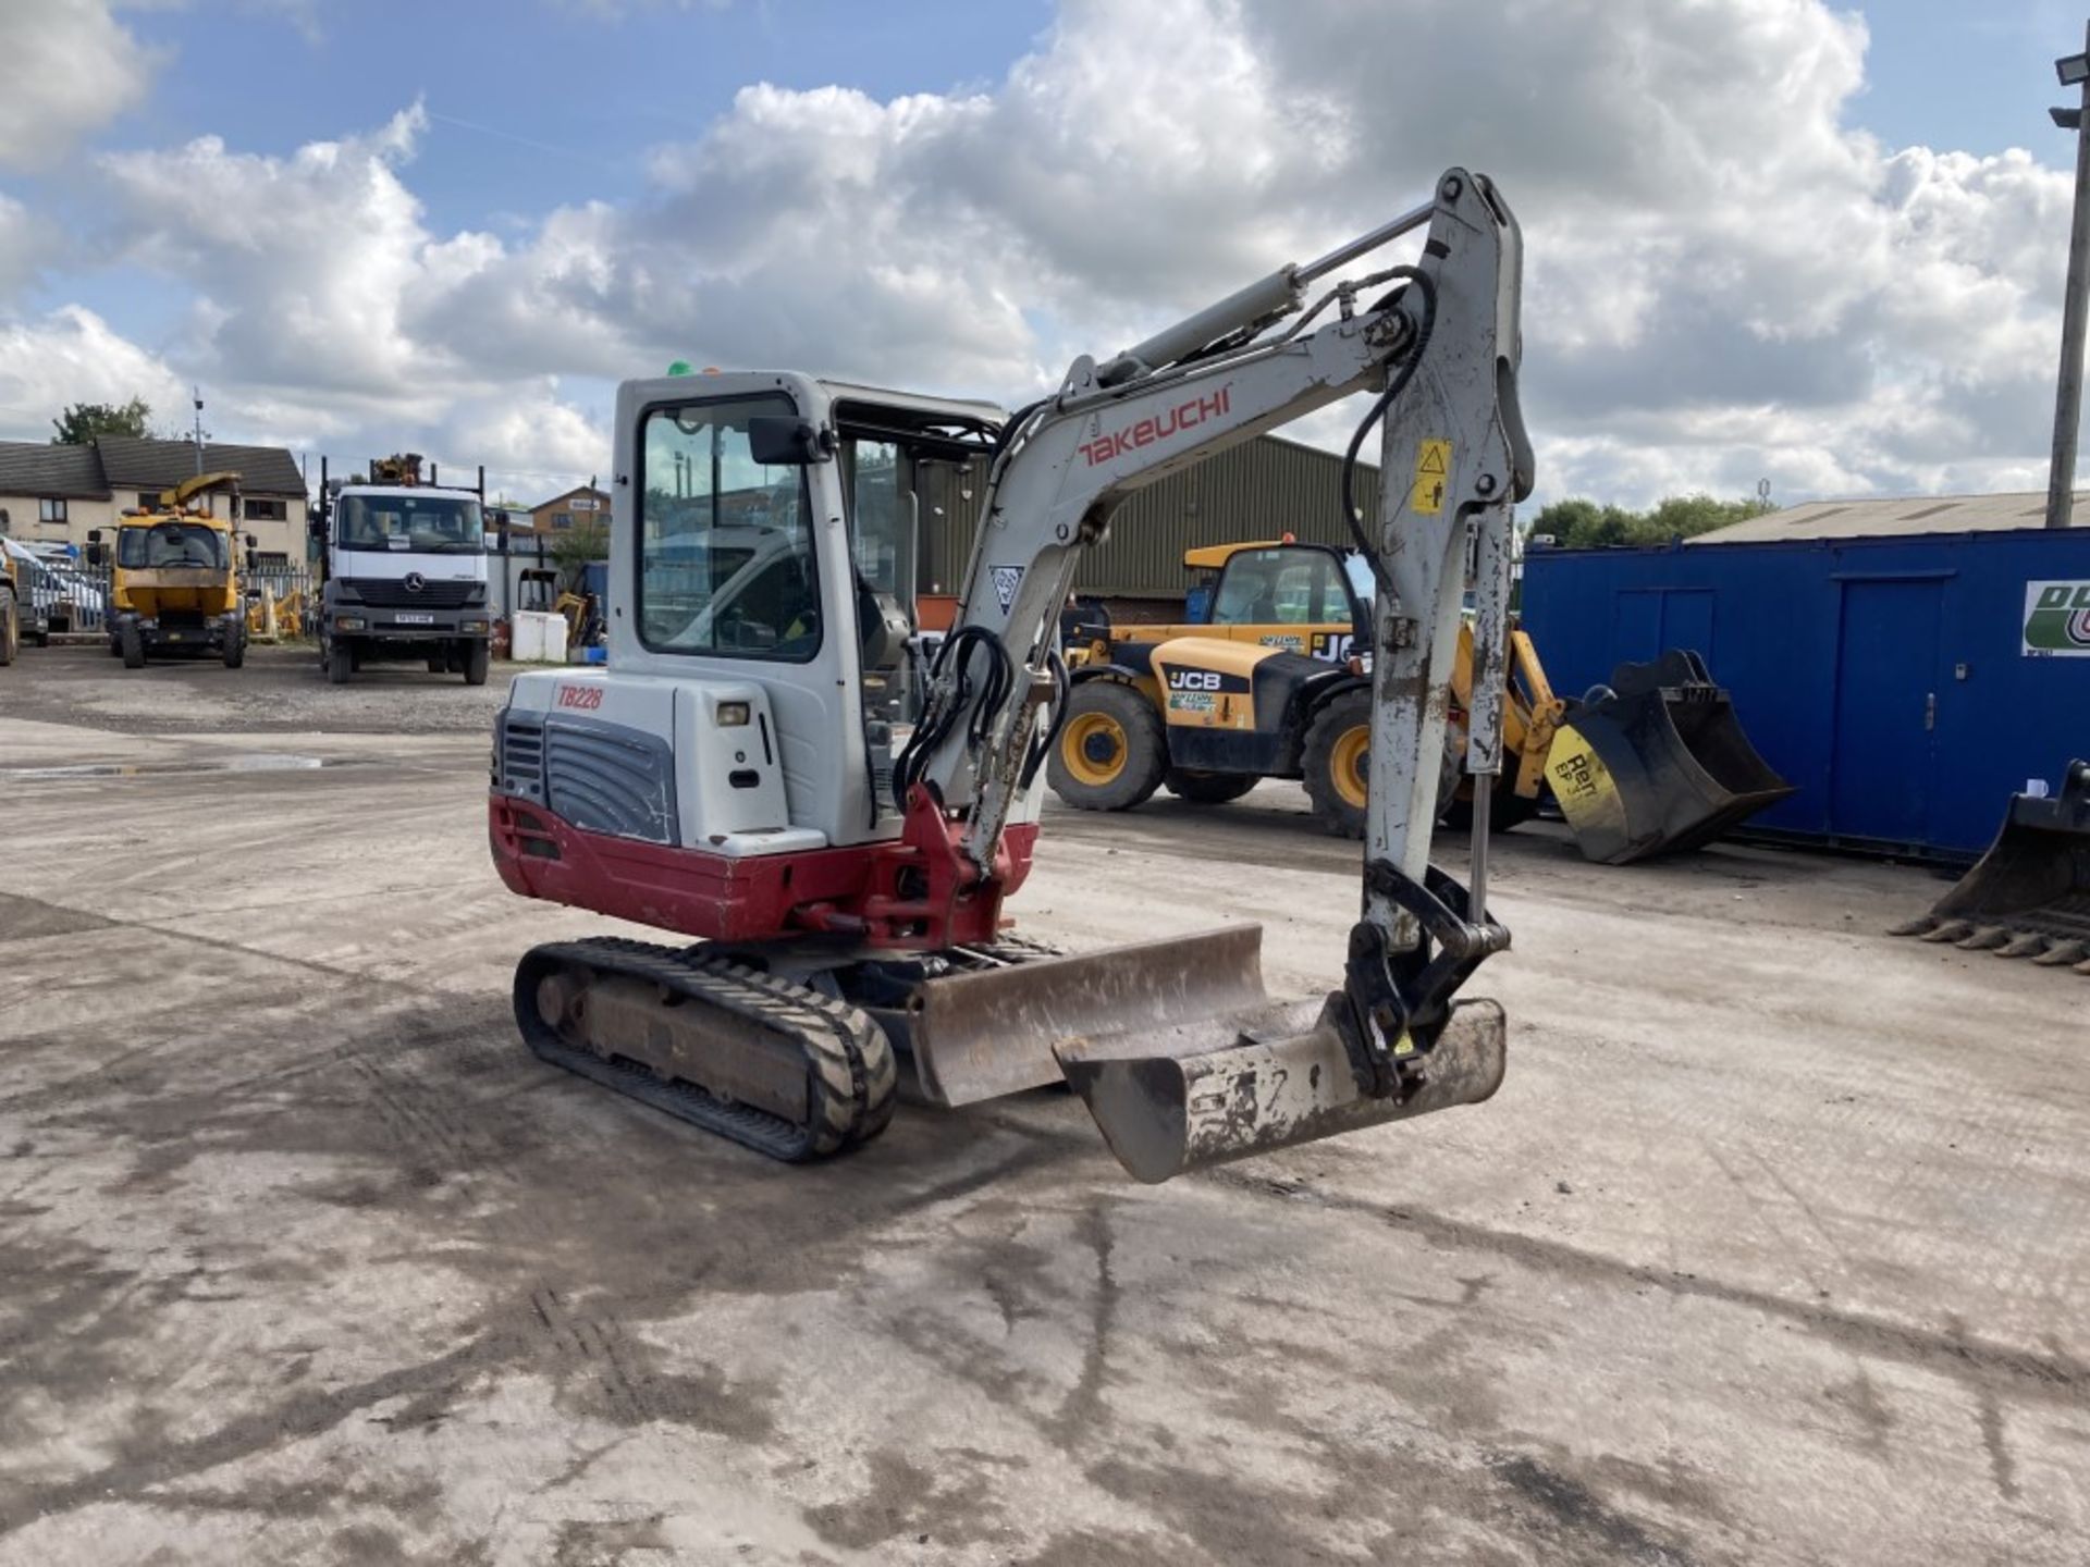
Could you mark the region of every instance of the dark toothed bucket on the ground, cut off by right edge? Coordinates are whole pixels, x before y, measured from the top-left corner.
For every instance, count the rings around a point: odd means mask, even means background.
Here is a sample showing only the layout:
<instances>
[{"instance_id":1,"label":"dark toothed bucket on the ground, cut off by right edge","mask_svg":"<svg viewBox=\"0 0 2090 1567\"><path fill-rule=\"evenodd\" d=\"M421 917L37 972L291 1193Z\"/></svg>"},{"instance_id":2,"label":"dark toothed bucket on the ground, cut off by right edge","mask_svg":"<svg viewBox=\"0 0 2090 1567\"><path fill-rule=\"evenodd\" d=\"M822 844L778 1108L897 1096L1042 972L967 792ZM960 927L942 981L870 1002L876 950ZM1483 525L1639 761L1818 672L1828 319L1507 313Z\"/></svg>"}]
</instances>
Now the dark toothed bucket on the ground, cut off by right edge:
<instances>
[{"instance_id":1,"label":"dark toothed bucket on the ground, cut off by right edge","mask_svg":"<svg viewBox=\"0 0 2090 1567\"><path fill-rule=\"evenodd\" d=\"M1975 867L1891 934L2090 974L2090 763L2069 763L2052 798L2013 794Z\"/></svg>"}]
</instances>

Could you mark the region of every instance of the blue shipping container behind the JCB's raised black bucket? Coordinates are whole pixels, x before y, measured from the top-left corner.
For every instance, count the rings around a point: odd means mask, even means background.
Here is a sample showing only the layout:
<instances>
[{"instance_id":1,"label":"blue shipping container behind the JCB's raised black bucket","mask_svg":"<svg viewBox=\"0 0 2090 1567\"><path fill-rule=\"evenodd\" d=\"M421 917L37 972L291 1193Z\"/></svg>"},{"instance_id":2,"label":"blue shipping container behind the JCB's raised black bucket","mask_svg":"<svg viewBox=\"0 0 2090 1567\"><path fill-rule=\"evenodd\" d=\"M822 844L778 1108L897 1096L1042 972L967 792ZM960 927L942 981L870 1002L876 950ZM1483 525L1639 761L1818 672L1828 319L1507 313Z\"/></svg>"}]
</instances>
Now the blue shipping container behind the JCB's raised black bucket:
<instances>
[{"instance_id":1,"label":"blue shipping container behind the JCB's raised black bucket","mask_svg":"<svg viewBox=\"0 0 2090 1567\"><path fill-rule=\"evenodd\" d=\"M1749 827L1965 859L2090 754L2090 529L1534 549L1563 696L1693 648L1797 792Z\"/></svg>"}]
</instances>

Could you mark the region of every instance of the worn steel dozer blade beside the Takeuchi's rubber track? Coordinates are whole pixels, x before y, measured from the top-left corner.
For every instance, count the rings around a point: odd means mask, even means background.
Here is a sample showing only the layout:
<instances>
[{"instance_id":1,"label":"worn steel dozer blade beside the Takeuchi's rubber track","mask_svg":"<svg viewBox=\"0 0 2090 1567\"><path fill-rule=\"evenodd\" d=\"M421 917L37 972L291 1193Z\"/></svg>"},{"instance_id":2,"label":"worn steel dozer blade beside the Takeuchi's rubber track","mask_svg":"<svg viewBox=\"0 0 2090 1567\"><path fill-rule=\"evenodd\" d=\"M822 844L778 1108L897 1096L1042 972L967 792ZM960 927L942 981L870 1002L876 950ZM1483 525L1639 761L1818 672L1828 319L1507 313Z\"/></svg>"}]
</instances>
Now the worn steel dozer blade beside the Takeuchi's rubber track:
<instances>
[{"instance_id":1,"label":"worn steel dozer blade beside the Takeuchi's rubber track","mask_svg":"<svg viewBox=\"0 0 2090 1567\"><path fill-rule=\"evenodd\" d=\"M924 1099L972 1105L1060 1082L1060 1040L1267 1005L1262 926L1233 926L924 980L886 1032L913 1055Z\"/></svg>"}]
</instances>

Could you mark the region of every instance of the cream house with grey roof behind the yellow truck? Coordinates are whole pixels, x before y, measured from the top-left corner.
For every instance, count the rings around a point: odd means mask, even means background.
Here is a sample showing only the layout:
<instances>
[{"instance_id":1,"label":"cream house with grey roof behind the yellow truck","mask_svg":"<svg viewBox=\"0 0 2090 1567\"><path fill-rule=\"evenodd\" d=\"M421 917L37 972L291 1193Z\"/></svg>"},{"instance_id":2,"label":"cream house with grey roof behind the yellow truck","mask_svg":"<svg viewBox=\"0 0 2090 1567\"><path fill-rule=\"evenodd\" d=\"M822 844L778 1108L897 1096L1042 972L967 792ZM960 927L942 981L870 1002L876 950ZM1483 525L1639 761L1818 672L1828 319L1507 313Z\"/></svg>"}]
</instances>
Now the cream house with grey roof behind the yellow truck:
<instances>
[{"instance_id":1,"label":"cream house with grey roof behind the yellow truck","mask_svg":"<svg viewBox=\"0 0 2090 1567\"><path fill-rule=\"evenodd\" d=\"M104 435L82 447L0 441L0 518L23 543L86 547L90 531L115 527L136 506L157 506L161 491L196 472L192 441L130 435ZM213 493L203 504L255 535L259 564L305 562L305 474L288 451L207 443L203 472L240 476L238 495Z\"/></svg>"}]
</instances>

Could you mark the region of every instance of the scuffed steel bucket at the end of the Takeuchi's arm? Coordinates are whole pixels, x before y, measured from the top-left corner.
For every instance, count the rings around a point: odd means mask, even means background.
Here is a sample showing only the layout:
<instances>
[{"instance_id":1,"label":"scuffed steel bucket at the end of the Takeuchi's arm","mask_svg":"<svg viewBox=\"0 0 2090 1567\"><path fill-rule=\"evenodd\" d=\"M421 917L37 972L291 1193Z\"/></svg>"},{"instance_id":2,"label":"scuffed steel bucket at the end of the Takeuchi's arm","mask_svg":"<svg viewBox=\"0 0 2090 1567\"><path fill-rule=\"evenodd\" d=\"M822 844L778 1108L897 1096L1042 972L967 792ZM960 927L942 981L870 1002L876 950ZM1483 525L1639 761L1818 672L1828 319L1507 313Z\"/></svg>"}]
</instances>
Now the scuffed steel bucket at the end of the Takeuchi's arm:
<instances>
[{"instance_id":1,"label":"scuffed steel bucket at the end of the Takeuchi's arm","mask_svg":"<svg viewBox=\"0 0 2090 1567\"><path fill-rule=\"evenodd\" d=\"M1507 1024L1494 1001L1461 1001L1402 1099L1358 1089L1338 1028L1348 999L1267 1005L1231 1032L1177 1026L1060 1045L1066 1080L1135 1180L1473 1105L1503 1084Z\"/></svg>"}]
</instances>

